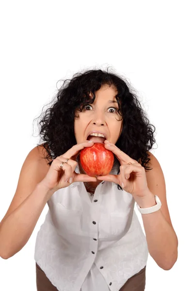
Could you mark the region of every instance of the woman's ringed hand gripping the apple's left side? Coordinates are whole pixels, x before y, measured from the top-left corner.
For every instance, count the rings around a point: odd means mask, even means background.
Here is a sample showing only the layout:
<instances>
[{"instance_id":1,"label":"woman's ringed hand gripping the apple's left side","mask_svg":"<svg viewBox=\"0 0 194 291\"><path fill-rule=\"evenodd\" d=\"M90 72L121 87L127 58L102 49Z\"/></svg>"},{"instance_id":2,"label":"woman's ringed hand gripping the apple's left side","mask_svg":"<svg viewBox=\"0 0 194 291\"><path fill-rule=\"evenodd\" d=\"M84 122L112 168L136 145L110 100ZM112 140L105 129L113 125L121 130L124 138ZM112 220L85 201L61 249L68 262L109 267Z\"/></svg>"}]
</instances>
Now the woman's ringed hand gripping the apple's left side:
<instances>
[{"instance_id":1,"label":"woman's ringed hand gripping the apple's left side","mask_svg":"<svg viewBox=\"0 0 194 291\"><path fill-rule=\"evenodd\" d=\"M84 141L81 144L72 146L65 154L53 160L47 175L40 183L44 184L48 191L57 191L61 188L68 187L72 182L96 182L97 178L95 177L90 177L85 174L77 174L75 172L75 168L77 165L77 162L75 160L79 155L79 152L84 147L89 147L93 145L93 142L89 143L88 141ZM67 163L65 163L66 159L69 159ZM63 170L60 167L62 162L64 162Z\"/></svg>"}]
</instances>

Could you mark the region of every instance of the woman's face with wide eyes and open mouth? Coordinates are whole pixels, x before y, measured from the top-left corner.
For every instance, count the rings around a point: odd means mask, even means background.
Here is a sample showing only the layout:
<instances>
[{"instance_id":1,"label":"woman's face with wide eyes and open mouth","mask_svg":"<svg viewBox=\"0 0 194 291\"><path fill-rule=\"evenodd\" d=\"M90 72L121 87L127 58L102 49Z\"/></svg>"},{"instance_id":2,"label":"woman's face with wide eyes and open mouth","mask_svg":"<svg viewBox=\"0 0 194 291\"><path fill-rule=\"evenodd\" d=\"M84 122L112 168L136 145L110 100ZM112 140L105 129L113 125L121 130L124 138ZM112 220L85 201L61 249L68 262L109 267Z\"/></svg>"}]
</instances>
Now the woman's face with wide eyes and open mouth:
<instances>
[{"instance_id":1,"label":"woman's face with wide eyes and open mouth","mask_svg":"<svg viewBox=\"0 0 194 291\"><path fill-rule=\"evenodd\" d=\"M122 120L117 113L119 107L115 98L117 92L113 87L103 85L95 93L94 103L86 105L82 112L76 112L79 115L74 121L77 144L87 140L89 132L93 130L104 133L108 141L116 144L122 131Z\"/></svg>"}]
</instances>

